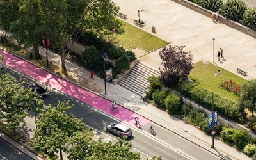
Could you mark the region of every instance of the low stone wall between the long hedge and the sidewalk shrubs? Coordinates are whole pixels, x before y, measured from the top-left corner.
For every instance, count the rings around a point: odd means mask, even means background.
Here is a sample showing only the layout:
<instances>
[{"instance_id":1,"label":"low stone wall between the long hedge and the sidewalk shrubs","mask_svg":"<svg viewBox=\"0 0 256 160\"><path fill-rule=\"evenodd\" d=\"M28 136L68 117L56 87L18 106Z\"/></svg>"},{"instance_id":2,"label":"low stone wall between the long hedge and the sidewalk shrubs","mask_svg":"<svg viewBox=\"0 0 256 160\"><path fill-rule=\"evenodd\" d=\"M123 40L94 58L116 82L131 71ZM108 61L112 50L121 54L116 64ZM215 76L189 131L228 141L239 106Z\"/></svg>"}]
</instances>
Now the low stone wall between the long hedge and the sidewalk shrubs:
<instances>
[{"instance_id":1,"label":"low stone wall between the long hedge and the sidewalk shrubs","mask_svg":"<svg viewBox=\"0 0 256 160\"><path fill-rule=\"evenodd\" d=\"M203 110L205 111L206 115L210 115L212 114L212 111L210 109L207 109L205 108L204 106L196 103L195 101L193 101L192 99L189 99L188 97L182 95L181 93L175 91L175 90L172 90L172 89L168 89L168 88L165 88L165 87L161 87L161 90L170 90L172 93L175 93L177 95L180 95L180 97L182 98L182 102L184 104L191 104L191 106L195 109L200 109L200 110ZM226 118L225 116L221 116L221 115L218 115L218 122L220 122L221 125L225 125L225 124L229 124L231 125L232 128L234 129L243 129L245 131L248 131L248 138L255 138L256 137L256 133L253 132L253 131L250 131L250 129L244 127L243 125L241 124L237 124L236 122Z\"/></svg>"}]
</instances>

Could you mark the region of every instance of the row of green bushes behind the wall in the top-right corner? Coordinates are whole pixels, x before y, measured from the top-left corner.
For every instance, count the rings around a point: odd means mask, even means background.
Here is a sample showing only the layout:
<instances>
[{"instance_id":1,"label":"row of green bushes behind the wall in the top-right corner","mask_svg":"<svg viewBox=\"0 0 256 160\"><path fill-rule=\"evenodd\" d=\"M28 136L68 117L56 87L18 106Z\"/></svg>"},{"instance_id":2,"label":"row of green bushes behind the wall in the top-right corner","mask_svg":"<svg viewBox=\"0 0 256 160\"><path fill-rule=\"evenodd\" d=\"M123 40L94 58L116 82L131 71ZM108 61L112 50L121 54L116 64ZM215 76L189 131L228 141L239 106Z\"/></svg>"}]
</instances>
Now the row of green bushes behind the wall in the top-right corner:
<instances>
[{"instance_id":1,"label":"row of green bushes behind the wall in the top-right corner","mask_svg":"<svg viewBox=\"0 0 256 160\"><path fill-rule=\"evenodd\" d=\"M256 31L256 8L250 8L242 0L228 0L223 3L223 0L189 0L207 10L216 12L220 10L220 15L227 17L251 28ZM221 8L219 7L221 6Z\"/></svg>"}]
</instances>

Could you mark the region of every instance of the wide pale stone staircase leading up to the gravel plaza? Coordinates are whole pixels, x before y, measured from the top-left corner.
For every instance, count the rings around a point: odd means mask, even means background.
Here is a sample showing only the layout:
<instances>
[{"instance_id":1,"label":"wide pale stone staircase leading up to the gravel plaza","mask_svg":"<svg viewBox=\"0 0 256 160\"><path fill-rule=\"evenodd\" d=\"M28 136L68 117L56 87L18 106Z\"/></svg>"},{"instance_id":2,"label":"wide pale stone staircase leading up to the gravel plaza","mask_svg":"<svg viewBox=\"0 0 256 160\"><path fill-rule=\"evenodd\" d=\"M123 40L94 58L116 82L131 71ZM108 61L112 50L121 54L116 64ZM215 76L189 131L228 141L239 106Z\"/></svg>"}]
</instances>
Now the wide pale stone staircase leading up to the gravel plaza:
<instances>
[{"instance_id":1,"label":"wide pale stone staircase leading up to the gravel plaza","mask_svg":"<svg viewBox=\"0 0 256 160\"><path fill-rule=\"evenodd\" d=\"M147 78L158 75L156 70L140 61L118 84L138 95L143 95L150 84Z\"/></svg>"}]
</instances>

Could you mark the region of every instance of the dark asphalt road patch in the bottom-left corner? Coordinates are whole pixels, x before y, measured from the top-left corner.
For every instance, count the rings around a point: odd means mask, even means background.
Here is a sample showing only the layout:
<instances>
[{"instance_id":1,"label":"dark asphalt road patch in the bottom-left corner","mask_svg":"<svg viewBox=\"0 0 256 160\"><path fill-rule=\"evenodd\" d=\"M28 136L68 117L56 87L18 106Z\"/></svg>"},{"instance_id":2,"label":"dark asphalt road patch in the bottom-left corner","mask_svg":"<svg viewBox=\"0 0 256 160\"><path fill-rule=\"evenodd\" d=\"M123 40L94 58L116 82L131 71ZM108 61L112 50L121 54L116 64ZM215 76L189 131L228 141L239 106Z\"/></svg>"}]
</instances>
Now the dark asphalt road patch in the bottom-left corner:
<instances>
[{"instance_id":1,"label":"dark asphalt road patch in the bottom-left corner","mask_svg":"<svg viewBox=\"0 0 256 160\"><path fill-rule=\"evenodd\" d=\"M0 159L4 160L28 160L33 159L28 155L24 154L21 150L11 145L8 141L0 138Z\"/></svg>"}]
</instances>

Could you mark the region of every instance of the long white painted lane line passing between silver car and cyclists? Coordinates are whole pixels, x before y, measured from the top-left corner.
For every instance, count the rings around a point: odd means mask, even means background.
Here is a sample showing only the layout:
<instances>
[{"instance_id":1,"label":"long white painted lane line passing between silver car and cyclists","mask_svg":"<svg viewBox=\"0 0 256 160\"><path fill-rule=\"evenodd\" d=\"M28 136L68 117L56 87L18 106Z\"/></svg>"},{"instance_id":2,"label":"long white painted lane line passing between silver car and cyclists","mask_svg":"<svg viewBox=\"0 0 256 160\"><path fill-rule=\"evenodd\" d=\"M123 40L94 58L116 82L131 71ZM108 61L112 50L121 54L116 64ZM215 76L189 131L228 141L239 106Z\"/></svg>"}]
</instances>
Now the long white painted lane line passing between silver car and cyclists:
<instances>
[{"instance_id":1,"label":"long white painted lane line passing between silver car and cyclists","mask_svg":"<svg viewBox=\"0 0 256 160\"><path fill-rule=\"evenodd\" d=\"M95 109L95 108L93 108L93 109ZM116 118L115 116L109 115L108 113L105 113L104 111L102 111L102 110L100 110L100 109L95 109L95 110L100 111L102 114L104 114L104 115L106 115L106 116L109 116L110 118L113 118L113 119L117 120L117 121L120 122L121 124L125 124L125 125L131 126L133 129L136 129L136 131L140 132L141 134L144 134L144 135L147 136L148 138L151 138L151 139L157 141L158 143L161 143L161 144L164 145L165 147L170 148L170 150L173 150L173 152L176 152L177 154L180 154L181 156L184 156L184 154L183 154L182 152L180 152L180 151L178 152L177 150L173 149L172 146L170 146L170 145L164 143L164 142L161 141L161 140L158 140L157 138L152 137L150 134L148 134L148 132L140 131L139 129L135 128L133 125L130 125L130 124L128 124L127 122L124 122L124 121L122 121L122 120ZM184 156L184 157L185 157L185 156ZM191 157L187 157L187 156L186 156L186 158L191 159L191 160L195 160L195 159L193 159L193 158L191 158Z\"/></svg>"}]
</instances>

